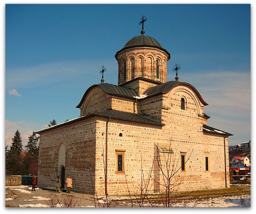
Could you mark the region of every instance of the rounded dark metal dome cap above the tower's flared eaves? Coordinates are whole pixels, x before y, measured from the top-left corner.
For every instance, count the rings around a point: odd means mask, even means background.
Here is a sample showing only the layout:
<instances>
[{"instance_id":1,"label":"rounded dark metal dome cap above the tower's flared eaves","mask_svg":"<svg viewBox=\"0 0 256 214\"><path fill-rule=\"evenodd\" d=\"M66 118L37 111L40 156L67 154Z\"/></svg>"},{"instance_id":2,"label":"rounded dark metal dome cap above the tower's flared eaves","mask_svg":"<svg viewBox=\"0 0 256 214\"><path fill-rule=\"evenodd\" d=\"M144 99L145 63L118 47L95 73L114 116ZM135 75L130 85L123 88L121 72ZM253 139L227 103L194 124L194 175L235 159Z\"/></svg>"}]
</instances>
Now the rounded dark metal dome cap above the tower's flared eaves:
<instances>
[{"instance_id":1,"label":"rounded dark metal dome cap above the tower's flared eaves","mask_svg":"<svg viewBox=\"0 0 256 214\"><path fill-rule=\"evenodd\" d=\"M159 42L154 38L144 35L134 36L128 42L126 42L123 48L128 48L131 46L156 46L158 48L162 48Z\"/></svg>"}]
</instances>

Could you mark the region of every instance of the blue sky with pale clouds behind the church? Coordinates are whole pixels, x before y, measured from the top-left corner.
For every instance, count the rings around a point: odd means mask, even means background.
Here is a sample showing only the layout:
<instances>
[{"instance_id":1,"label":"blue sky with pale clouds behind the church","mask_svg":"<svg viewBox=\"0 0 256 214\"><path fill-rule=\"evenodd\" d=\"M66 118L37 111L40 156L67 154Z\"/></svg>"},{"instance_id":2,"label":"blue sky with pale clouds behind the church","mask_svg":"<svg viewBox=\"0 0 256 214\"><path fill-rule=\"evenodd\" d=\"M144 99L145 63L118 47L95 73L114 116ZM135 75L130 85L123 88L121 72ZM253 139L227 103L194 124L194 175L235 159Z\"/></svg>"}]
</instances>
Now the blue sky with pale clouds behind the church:
<instances>
[{"instance_id":1,"label":"blue sky with pale clouds behind the church","mask_svg":"<svg viewBox=\"0 0 256 214\"><path fill-rule=\"evenodd\" d=\"M76 118L92 84L117 84L114 55L133 36L155 38L180 64L179 80L209 104L208 125L250 140L250 4L7 4L5 136L17 128L26 144L33 130Z\"/></svg>"}]
</instances>

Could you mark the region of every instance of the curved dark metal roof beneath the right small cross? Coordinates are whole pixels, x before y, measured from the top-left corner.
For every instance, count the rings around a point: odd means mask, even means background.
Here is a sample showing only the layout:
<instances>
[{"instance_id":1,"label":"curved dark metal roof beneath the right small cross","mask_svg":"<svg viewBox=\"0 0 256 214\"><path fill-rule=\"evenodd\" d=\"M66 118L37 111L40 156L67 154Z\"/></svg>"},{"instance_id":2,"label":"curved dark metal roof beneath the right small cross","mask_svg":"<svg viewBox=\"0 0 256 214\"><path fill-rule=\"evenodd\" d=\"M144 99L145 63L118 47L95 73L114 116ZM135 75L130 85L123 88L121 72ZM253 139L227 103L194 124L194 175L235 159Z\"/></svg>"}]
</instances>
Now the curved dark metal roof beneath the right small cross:
<instances>
[{"instance_id":1,"label":"curved dark metal roof beneath the right small cross","mask_svg":"<svg viewBox=\"0 0 256 214\"><path fill-rule=\"evenodd\" d=\"M153 86L148 88L146 91L143 92L143 94L147 94L147 98L151 97L151 96L156 96L158 94L166 94L168 93L172 88L178 86L178 85L186 85L190 88L192 88L192 90L194 90L194 92L196 92L196 95L198 96L199 100L202 102L202 104L204 104L205 106L207 106L208 104L203 100L202 96L199 94L198 90L196 90L196 88L192 85L190 85L187 82L180 82L180 81L169 81L163 84L160 84L158 86Z\"/></svg>"}]
</instances>

